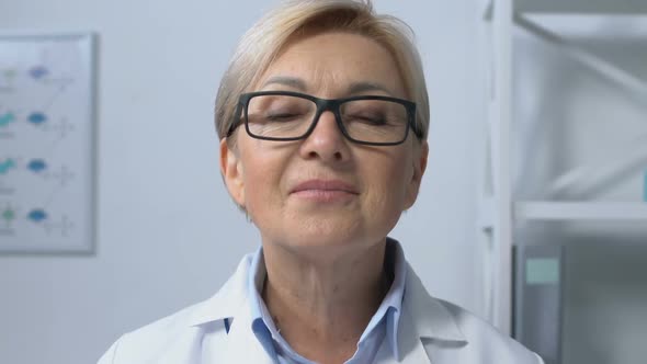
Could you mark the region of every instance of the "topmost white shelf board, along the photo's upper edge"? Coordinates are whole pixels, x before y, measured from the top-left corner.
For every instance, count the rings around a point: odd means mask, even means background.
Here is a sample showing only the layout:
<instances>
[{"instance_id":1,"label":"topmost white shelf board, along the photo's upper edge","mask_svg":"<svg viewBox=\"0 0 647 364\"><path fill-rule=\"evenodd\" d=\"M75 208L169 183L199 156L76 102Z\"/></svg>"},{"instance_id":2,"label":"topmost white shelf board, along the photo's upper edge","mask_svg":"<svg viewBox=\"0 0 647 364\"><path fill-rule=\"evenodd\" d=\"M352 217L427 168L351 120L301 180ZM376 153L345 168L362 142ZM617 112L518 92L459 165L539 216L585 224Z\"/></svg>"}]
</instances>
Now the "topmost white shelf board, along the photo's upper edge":
<instances>
[{"instance_id":1,"label":"topmost white shelf board, along the photo's upper edge","mask_svg":"<svg viewBox=\"0 0 647 364\"><path fill-rule=\"evenodd\" d=\"M515 0L514 10L553 14L647 14L645 0Z\"/></svg>"}]
</instances>

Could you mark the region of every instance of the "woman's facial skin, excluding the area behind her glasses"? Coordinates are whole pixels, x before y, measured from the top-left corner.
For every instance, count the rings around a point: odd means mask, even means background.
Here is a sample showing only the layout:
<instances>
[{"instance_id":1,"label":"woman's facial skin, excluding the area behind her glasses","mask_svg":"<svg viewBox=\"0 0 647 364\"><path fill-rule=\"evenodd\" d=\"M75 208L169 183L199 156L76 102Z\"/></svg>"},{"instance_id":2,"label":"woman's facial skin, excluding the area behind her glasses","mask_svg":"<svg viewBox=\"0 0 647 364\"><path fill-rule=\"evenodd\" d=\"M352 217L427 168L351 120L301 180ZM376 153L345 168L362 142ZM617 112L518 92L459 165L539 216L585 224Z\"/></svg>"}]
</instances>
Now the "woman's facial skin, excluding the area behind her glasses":
<instances>
[{"instance_id":1,"label":"woman's facial skin, excluding the area behind her glasses","mask_svg":"<svg viewBox=\"0 0 647 364\"><path fill-rule=\"evenodd\" d=\"M361 86L361 87L357 87ZM324 33L288 43L253 91L296 91L322 99L406 99L390 53L355 34ZM344 138L331 112L298 141L250 137L245 127L220 145L229 193L259 228L263 244L293 252L344 253L383 242L416 201L427 144L409 133L397 146Z\"/></svg>"}]
</instances>

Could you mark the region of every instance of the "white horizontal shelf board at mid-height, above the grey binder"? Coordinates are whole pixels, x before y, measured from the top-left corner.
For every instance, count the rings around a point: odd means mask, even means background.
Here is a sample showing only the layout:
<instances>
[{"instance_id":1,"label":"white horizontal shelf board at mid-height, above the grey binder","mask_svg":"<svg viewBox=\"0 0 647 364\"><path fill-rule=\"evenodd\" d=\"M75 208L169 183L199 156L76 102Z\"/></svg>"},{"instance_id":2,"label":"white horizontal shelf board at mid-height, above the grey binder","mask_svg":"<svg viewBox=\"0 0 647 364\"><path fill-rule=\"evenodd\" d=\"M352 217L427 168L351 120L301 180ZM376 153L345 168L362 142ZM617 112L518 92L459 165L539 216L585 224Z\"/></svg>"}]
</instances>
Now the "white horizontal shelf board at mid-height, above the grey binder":
<instances>
[{"instance_id":1,"label":"white horizontal shelf board at mid-height, above the grey binder","mask_svg":"<svg viewBox=\"0 0 647 364\"><path fill-rule=\"evenodd\" d=\"M518 220L645 220L647 203L640 202L547 202L514 203Z\"/></svg>"}]
</instances>

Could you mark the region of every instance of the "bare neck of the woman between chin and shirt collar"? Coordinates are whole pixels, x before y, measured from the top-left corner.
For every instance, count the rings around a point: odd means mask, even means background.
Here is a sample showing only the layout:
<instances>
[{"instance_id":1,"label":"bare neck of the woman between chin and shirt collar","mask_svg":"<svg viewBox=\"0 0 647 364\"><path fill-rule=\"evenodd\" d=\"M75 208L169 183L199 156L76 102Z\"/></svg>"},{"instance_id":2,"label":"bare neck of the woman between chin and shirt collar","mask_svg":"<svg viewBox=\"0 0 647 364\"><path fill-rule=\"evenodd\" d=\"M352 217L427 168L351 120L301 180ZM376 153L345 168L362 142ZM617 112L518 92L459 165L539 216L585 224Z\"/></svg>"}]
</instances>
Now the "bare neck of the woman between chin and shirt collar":
<instances>
[{"instance_id":1,"label":"bare neck of the woman between chin and shirt collar","mask_svg":"<svg viewBox=\"0 0 647 364\"><path fill-rule=\"evenodd\" d=\"M263 247L268 277L262 296L294 350L321 362L325 353L352 356L390 285L385 248L383 241L321 263L273 244Z\"/></svg>"}]
</instances>

